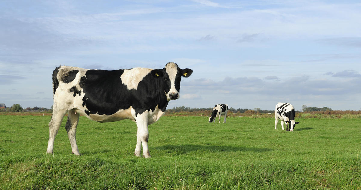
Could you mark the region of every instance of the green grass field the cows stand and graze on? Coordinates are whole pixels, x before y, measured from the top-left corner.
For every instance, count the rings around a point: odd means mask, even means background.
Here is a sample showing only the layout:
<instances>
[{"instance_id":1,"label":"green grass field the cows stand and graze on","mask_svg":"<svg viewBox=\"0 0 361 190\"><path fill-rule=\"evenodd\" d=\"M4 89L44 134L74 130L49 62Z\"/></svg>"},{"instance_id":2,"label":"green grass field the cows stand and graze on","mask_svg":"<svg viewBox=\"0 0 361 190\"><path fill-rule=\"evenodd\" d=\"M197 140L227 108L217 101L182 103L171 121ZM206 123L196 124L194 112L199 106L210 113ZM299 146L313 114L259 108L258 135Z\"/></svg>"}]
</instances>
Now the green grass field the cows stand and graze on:
<instances>
[{"instance_id":1,"label":"green grass field the cows stand and graze on","mask_svg":"<svg viewBox=\"0 0 361 190\"><path fill-rule=\"evenodd\" d=\"M152 158L134 156L136 125L81 117L71 154L63 124L46 154L50 116L0 115L0 189L361 189L361 119L162 117Z\"/></svg>"}]
</instances>

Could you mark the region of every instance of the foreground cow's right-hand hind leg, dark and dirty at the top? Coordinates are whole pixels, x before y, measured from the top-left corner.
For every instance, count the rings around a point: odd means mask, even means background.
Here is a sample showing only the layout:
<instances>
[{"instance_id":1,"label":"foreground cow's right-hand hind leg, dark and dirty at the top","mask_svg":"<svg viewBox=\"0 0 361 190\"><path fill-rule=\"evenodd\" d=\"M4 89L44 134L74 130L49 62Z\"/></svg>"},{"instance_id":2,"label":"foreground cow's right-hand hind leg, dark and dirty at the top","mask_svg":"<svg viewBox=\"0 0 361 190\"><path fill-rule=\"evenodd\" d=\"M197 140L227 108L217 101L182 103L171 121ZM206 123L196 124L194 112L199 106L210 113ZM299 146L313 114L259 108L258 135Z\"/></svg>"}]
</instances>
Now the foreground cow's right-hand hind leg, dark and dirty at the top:
<instances>
[{"instance_id":1,"label":"foreground cow's right-hand hind leg, dark and dirty at the top","mask_svg":"<svg viewBox=\"0 0 361 190\"><path fill-rule=\"evenodd\" d=\"M65 124L66 132L68 132L68 137L71 145L71 152L74 155L80 155L77 145L77 139L75 139L75 133L77 132L77 125L79 122L79 113L76 113L73 110L68 111L68 120Z\"/></svg>"}]
</instances>

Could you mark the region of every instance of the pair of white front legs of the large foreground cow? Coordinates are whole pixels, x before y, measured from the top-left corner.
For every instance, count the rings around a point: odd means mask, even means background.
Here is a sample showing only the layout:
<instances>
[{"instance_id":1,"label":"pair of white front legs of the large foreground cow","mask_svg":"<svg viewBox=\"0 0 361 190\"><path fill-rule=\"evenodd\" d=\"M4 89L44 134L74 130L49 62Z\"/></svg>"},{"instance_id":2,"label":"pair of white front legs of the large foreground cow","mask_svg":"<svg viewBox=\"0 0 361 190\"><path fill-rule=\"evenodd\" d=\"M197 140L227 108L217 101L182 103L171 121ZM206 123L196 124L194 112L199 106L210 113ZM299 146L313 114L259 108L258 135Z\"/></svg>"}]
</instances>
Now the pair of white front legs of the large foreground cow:
<instances>
[{"instance_id":1,"label":"pair of white front legs of the large foreground cow","mask_svg":"<svg viewBox=\"0 0 361 190\"><path fill-rule=\"evenodd\" d=\"M148 111L144 111L142 114L138 114L135 118L136 126L138 127L138 131L136 133L137 142L134 154L140 157L140 145L143 145L143 156L145 158L150 158L148 149Z\"/></svg>"}]
</instances>

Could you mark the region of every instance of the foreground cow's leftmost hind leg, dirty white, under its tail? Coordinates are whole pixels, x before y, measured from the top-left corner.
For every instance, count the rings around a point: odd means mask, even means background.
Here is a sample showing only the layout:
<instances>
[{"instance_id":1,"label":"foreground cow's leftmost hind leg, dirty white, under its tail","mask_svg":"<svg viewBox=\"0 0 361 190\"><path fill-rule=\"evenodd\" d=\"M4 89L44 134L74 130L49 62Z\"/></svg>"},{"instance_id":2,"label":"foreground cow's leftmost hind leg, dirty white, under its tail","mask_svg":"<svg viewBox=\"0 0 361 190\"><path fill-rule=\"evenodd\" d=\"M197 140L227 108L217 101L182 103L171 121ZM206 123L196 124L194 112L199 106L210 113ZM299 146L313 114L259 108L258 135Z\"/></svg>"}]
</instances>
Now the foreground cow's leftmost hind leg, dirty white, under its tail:
<instances>
[{"instance_id":1,"label":"foreground cow's leftmost hind leg, dirty white, under its tail","mask_svg":"<svg viewBox=\"0 0 361 190\"><path fill-rule=\"evenodd\" d=\"M48 149L46 151L49 154L53 153L55 136L59 131L65 113L66 111L64 110L56 110L56 109L53 110L53 115L51 116L49 122L49 141L48 141Z\"/></svg>"}]
</instances>

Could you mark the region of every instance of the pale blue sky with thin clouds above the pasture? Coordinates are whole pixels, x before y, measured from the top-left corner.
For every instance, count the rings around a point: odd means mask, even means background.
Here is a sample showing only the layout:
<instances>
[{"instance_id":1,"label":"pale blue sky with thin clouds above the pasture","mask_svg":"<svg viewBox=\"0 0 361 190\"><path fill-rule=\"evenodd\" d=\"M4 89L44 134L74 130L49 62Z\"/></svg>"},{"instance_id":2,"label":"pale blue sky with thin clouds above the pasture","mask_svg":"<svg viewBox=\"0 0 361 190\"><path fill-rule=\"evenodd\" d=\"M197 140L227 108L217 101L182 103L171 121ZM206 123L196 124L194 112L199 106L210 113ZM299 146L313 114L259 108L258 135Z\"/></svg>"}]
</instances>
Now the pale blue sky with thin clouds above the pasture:
<instances>
[{"instance_id":1,"label":"pale blue sky with thin clouds above the pasture","mask_svg":"<svg viewBox=\"0 0 361 190\"><path fill-rule=\"evenodd\" d=\"M52 71L193 69L174 106L361 109L361 3L0 2L0 103L53 104Z\"/></svg>"}]
</instances>

